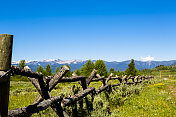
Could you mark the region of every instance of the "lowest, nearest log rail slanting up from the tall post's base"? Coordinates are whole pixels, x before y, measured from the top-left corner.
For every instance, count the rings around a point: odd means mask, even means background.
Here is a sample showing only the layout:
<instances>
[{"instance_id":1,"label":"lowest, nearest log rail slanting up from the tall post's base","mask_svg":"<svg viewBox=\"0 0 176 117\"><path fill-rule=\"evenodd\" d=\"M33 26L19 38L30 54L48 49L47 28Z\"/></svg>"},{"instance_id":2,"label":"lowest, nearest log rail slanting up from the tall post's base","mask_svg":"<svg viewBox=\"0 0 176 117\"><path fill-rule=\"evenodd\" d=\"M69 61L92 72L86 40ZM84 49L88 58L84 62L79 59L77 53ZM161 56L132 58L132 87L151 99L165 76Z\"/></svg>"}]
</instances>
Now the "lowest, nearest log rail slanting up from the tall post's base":
<instances>
[{"instance_id":1,"label":"lowest, nearest log rail slanting up from the tall post's base","mask_svg":"<svg viewBox=\"0 0 176 117\"><path fill-rule=\"evenodd\" d=\"M45 110L55 102L60 102L62 100L63 100L62 96L53 97L37 104L29 105L27 107L18 108L15 110L10 110L8 111L8 116L9 117L28 117L33 113L38 113L39 111Z\"/></svg>"}]
</instances>

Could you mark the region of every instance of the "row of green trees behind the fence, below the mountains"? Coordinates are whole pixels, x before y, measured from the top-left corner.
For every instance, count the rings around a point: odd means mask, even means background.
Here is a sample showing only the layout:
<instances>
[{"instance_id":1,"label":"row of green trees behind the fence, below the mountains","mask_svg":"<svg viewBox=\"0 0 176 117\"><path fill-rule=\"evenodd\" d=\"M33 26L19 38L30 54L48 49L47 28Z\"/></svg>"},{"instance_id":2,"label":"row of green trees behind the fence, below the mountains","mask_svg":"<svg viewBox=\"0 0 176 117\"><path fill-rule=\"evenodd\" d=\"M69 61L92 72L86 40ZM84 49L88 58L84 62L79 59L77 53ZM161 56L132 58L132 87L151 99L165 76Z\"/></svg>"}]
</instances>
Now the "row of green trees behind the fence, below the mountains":
<instances>
[{"instance_id":1,"label":"row of green trees behind the fence, below the mountains","mask_svg":"<svg viewBox=\"0 0 176 117\"><path fill-rule=\"evenodd\" d=\"M24 68L25 66L26 66L25 60L21 60L20 63L19 63L19 67ZM114 68L111 68L108 71L103 60L97 60L95 63L93 63L91 60L88 60L81 67L81 69L76 69L75 71L72 71L72 72L71 72L70 66L68 64L66 66L69 67L69 69L70 69L70 71L67 72L67 74L65 75L66 77L71 77L73 73L75 73L78 76L82 75L82 76L88 77L93 69L96 69L97 73L100 76L105 76L105 77L107 77L111 73L113 73L114 76L115 75L117 75L117 76L122 76L122 75L136 76L136 75L140 75L139 70L137 70L135 68L134 59L131 60L131 63L128 64L128 68L125 71L120 71L120 70L116 71ZM63 66L61 66L61 68L62 67ZM55 73L57 73L59 71L59 69L60 69L59 66L56 67ZM49 64L45 68L43 68L43 66L40 65L37 68L37 72L41 72L44 76L53 76L55 74L55 73L52 73L52 69L51 69L51 66Z\"/></svg>"}]
</instances>

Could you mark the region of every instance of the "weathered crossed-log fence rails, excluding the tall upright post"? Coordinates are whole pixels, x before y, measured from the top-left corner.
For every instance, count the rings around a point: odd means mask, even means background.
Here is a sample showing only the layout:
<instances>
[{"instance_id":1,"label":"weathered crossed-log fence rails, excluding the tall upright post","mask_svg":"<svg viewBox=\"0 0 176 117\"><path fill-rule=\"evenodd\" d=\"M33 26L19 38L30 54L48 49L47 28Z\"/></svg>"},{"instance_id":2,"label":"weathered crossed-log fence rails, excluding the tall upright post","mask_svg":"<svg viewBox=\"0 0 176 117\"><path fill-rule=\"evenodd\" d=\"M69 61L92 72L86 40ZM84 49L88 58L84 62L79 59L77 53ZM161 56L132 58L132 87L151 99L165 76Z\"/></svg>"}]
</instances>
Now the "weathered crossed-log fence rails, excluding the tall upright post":
<instances>
[{"instance_id":1,"label":"weathered crossed-log fence rails, excluding the tall upright post","mask_svg":"<svg viewBox=\"0 0 176 117\"><path fill-rule=\"evenodd\" d=\"M62 109L66 106L70 106L75 104L77 101L81 100L82 98L86 97L89 94L92 96L101 93L102 91L109 89L111 87L120 86L121 84L138 84L141 83L143 80L151 79L152 76L124 76L124 77L112 77L112 74L108 78L101 77L96 73L96 70L93 70L91 75L86 79L84 76L75 76L74 77L64 77L64 75L69 71L67 66L62 67L60 71L54 77L43 77L42 74L32 72L31 70L19 69L18 67L12 66L11 73L27 76L28 79L32 82L32 84L36 87L39 92L39 96L35 99L33 104L29 105L28 107L22 107L15 110L9 110L8 116L9 117L25 117L30 116L33 113L38 113L46 109L47 107L51 106L52 109L57 113L59 117L67 117L68 114ZM9 73L9 72L8 72ZM2 75L1 77L3 77ZM99 76L99 78L97 78ZM46 80L47 79L47 80ZM133 82L129 82L132 79ZM110 80L119 80L119 84L111 85L108 83ZM91 82L102 81L102 86L95 90L94 87L89 87ZM77 94L63 98L62 96L59 97L52 97L49 93L58 83L65 83L65 82L79 82L82 86L82 91L78 92ZM45 100L45 101L43 101Z\"/></svg>"}]
</instances>

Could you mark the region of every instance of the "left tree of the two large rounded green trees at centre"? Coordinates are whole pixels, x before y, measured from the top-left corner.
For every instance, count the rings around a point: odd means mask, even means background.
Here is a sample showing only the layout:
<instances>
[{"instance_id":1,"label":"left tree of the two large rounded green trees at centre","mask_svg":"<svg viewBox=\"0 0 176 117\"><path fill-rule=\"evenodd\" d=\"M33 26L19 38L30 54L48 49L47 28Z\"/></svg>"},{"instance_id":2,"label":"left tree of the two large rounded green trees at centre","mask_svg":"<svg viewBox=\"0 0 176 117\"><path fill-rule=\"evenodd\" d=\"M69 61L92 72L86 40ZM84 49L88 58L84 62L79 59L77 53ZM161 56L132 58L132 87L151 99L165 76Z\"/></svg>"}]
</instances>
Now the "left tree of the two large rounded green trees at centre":
<instances>
[{"instance_id":1,"label":"left tree of the two large rounded green trees at centre","mask_svg":"<svg viewBox=\"0 0 176 117\"><path fill-rule=\"evenodd\" d=\"M94 69L94 63L88 60L81 68L81 75L88 77Z\"/></svg>"}]
</instances>

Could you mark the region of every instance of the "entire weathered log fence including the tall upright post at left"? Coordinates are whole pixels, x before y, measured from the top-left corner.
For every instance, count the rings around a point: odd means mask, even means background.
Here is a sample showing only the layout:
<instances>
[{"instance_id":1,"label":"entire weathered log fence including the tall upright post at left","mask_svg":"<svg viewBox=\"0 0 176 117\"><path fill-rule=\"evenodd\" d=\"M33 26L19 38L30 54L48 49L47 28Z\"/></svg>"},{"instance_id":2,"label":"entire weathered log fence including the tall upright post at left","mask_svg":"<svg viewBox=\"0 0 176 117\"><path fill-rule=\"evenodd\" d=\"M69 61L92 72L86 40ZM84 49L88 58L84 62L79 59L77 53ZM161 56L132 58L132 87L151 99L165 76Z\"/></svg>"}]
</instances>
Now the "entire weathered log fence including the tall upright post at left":
<instances>
[{"instance_id":1,"label":"entire weathered log fence including the tall upright post at left","mask_svg":"<svg viewBox=\"0 0 176 117\"><path fill-rule=\"evenodd\" d=\"M120 86L121 84L138 84L143 80L153 78L152 76L131 77L127 75L123 77L112 77L113 74L110 74L108 78L104 78L97 74L97 70L95 69L88 78L84 76L77 76L76 74L73 74L73 77L66 78L64 75L69 71L67 66L63 66L53 77L46 78L41 73L33 72L30 69L20 69L15 66L11 67L12 37L13 36L11 35L0 35L0 113L2 117L28 117L33 113L38 113L39 111L45 110L49 106L59 117L68 117L69 115L63 108L74 105L77 101L83 98L86 99L86 96L89 94L91 94L93 100L95 95L98 95L106 89L111 89L111 87ZM10 41L7 41L7 39L10 39ZM9 58L5 59L7 57ZM6 65L4 65L4 62ZM35 86L39 92L39 95L31 105L8 111L10 74L26 76ZM130 79L132 79L132 82L129 82ZM120 83L111 85L108 83L110 80L119 80ZM91 82L97 81L102 81L102 86L99 89L96 90L95 87L89 87ZM58 83L65 82L78 82L82 86L82 90L66 98L63 98L62 96L53 97L50 92Z\"/></svg>"}]
</instances>

